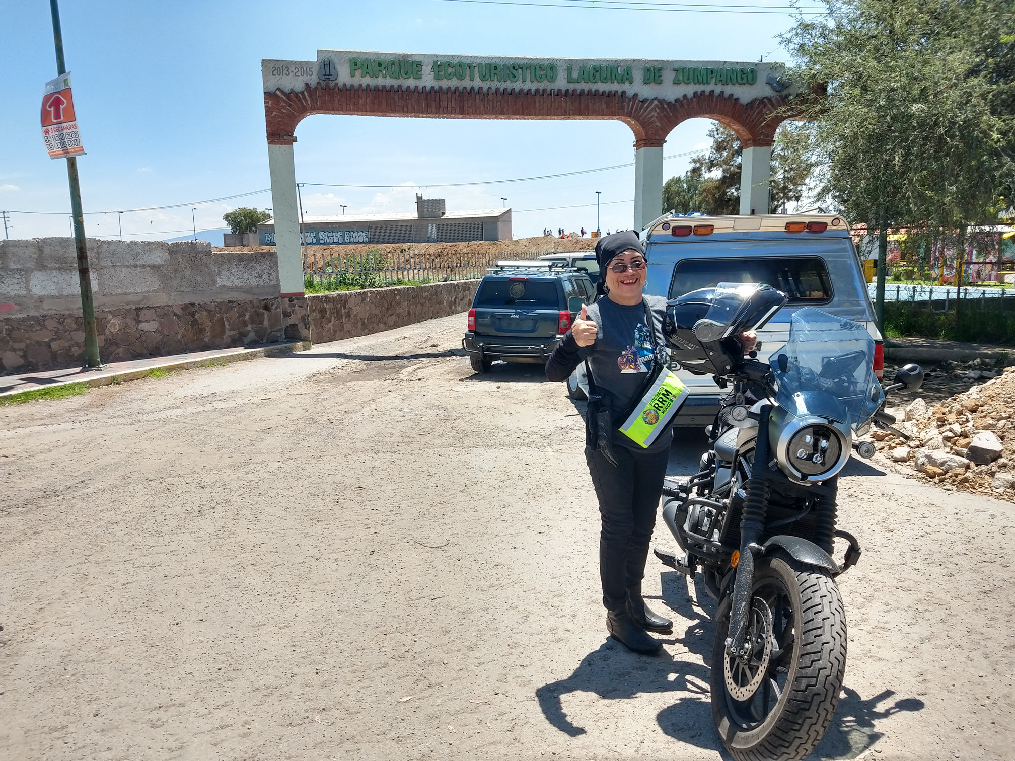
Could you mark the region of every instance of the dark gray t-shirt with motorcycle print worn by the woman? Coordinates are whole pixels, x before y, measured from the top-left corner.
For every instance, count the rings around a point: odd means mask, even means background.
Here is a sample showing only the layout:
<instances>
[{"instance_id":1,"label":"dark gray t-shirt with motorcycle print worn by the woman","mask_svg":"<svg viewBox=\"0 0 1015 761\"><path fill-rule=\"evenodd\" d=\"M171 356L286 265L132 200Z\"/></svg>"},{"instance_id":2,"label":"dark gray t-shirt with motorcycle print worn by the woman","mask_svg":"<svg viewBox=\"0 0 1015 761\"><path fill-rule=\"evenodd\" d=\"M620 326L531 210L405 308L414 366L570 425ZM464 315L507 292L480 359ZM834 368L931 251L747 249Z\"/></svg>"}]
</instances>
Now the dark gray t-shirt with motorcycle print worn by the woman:
<instances>
[{"instance_id":1,"label":"dark gray t-shirt with motorcycle print worn by the woman","mask_svg":"<svg viewBox=\"0 0 1015 761\"><path fill-rule=\"evenodd\" d=\"M595 385L611 399L614 426L624 422L621 416L629 414L638 392L645 393L641 390L648 373L652 371L653 352L659 352L661 360L667 361L666 339L663 336L666 299L650 295L646 295L645 299L656 324L655 337L645 321L645 304L625 306L605 296L589 306L589 320L596 323L599 333L596 343L582 349L580 356L589 360ZM669 446L672 439L672 428L661 433L648 448L642 448L619 431L613 435L615 444L641 452L659 452Z\"/></svg>"}]
</instances>

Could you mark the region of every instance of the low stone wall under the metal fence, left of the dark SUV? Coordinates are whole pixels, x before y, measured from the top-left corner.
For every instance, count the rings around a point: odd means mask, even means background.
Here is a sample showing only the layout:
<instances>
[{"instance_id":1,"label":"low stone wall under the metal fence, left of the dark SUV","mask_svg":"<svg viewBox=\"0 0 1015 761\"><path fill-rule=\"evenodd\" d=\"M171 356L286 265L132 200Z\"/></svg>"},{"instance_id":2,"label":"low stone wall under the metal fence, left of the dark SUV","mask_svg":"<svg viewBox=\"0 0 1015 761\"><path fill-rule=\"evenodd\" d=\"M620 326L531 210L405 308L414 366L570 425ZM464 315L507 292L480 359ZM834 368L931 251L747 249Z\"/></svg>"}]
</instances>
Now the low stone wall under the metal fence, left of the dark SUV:
<instances>
[{"instance_id":1,"label":"low stone wall under the metal fence, left of the dark SUV","mask_svg":"<svg viewBox=\"0 0 1015 761\"><path fill-rule=\"evenodd\" d=\"M311 340L338 341L466 312L478 286L478 280L459 280L309 295Z\"/></svg>"}]
</instances>

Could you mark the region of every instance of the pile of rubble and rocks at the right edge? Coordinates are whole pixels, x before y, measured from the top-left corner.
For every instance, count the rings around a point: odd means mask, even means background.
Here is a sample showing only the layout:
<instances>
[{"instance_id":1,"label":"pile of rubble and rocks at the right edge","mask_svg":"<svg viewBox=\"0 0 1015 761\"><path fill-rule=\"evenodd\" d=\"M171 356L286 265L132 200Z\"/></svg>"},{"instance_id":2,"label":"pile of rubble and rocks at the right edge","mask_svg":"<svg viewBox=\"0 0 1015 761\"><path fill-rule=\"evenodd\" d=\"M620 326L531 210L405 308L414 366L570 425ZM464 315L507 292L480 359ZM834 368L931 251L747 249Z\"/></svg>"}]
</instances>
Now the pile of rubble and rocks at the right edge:
<instances>
[{"instance_id":1,"label":"pile of rubble and rocks at the right edge","mask_svg":"<svg viewBox=\"0 0 1015 761\"><path fill-rule=\"evenodd\" d=\"M993 373L992 373L993 374ZM878 451L945 488L1015 498L1015 367L931 408L905 408L891 431L872 430Z\"/></svg>"}]
</instances>

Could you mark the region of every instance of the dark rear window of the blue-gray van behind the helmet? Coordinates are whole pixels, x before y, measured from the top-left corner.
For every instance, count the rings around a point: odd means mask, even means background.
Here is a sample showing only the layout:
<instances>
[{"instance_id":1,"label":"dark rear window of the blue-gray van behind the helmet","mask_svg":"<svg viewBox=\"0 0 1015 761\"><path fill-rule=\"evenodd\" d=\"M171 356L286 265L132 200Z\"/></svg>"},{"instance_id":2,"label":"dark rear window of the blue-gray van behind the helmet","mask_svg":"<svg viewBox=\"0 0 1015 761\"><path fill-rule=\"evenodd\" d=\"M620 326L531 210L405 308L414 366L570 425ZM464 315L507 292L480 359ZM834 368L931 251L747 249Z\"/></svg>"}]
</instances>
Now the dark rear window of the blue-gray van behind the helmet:
<instances>
[{"instance_id":1,"label":"dark rear window of the blue-gray van behind the helmet","mask_svg":"<svg viewBox=\"0 0 1015 761\"><path fill-rule=\"evenodd\" d=\"M832 296L828 269L818 257L738 257L677 262L670 298L720 283L763 283L783 291L796 304L824 303Z\"/></svg>"}]
</instances>

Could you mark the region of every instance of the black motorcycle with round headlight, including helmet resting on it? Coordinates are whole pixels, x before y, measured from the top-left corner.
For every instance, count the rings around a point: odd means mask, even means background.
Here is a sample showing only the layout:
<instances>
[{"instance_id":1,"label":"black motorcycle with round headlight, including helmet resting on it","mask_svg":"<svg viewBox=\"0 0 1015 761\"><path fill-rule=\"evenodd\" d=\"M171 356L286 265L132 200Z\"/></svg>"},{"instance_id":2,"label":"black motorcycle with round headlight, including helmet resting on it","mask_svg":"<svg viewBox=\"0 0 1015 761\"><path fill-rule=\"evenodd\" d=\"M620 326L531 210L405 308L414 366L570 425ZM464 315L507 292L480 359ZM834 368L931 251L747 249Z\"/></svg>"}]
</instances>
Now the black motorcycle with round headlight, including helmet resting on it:
<instances>
[{"instance_id":1,"label":"black motorcycle with round headlight, including helmet resting on it","mask_svg":"<svg viewBox=\"0 0 1015 761\"><path fill-rule=\"evenodd\" d=\"M767 285L720 284L671 300L665 325L672 360L729 389L699 472L663 489L680 554L656 555L700 574L718 601L712 709L737 761L802 759L831 721L847 660L835 579L863 552L837 528L838 474L854 451L873 456L859 441L872 424L895 422L885 392L916 391L924 377L906 365L883 389L866 328L813 307L793 314L768 363L745 356L740 335L786 302Z\"/></svg>"}]
</instances>

